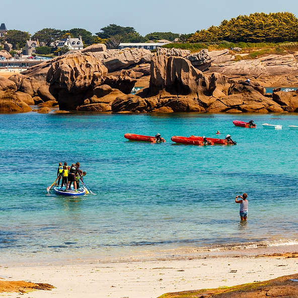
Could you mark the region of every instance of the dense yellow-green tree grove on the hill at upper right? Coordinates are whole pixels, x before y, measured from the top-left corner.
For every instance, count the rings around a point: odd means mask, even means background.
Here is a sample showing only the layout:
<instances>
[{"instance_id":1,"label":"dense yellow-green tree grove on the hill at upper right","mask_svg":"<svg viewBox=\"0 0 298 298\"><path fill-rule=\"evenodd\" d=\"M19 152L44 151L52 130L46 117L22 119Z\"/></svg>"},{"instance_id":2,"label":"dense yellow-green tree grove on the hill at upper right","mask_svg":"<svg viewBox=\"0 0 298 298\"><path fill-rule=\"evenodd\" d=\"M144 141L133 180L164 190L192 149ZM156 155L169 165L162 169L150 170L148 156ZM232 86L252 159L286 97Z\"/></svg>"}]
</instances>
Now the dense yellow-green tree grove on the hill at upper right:
<instances>
[{"instance_id":1,"label":"dense yellow-green tree grove on the hill at upper right","mask_svg":"<svg viewBox=\"0 0 298 298\"><path fill-rule=\"evenodd\" d=\"M199 30L188 38L198 42L284 42L298 41L298 19L291 13L255 13L223 20L219 26Z\"/></svg>"}]
</instances>

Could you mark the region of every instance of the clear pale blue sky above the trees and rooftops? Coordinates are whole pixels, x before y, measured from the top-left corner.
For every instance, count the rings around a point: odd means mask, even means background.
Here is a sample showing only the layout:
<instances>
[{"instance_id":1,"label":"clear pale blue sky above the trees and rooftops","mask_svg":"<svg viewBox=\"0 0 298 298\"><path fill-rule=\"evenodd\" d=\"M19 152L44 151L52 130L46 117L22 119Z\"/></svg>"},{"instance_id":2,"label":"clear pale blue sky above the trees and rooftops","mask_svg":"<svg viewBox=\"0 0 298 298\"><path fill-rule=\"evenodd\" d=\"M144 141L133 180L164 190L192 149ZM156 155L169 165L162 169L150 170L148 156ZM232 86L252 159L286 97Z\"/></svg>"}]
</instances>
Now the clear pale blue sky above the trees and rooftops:
<instances>
[{"instance_id":1,"label":"clear pale blue sky above the trees and rooftops","mask_svg":"<svg viewBox=\"0 0 298 298\"><path fill-rule=\"evenodd\" d=\"M32 35L43 28L83 28L95 34L116 24L133 27L144 36L194 33L256 12L290 12L298 17L298 5L295 0L14 0L2 6L0 23Z\"/></svg>"}]
</instances>

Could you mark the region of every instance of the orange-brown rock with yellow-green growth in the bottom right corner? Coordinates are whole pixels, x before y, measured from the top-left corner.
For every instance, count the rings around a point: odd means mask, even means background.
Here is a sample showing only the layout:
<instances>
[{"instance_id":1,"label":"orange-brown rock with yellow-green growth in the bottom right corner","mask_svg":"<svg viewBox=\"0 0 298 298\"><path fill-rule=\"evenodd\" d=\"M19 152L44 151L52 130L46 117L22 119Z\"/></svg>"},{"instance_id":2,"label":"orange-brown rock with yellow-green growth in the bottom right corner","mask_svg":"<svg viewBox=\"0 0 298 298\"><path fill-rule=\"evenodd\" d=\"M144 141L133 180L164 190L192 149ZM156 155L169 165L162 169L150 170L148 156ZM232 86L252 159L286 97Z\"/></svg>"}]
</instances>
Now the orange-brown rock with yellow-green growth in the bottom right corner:
<instances>
[{"instance_id":1,"label":"orange-brown rock with yellow-green growth in the bottom right corner","mask_svg":"<svg viewBox=\"0 0 298 298\"><path fill-rule=\"evenodd\" d=\"M294 281L296 280L296 281ZM267 281L247 283L217 289L190 290L167 293L163 298L296 298L298 297L298 274L287 275Z\"/></svg>"}]
</instances>

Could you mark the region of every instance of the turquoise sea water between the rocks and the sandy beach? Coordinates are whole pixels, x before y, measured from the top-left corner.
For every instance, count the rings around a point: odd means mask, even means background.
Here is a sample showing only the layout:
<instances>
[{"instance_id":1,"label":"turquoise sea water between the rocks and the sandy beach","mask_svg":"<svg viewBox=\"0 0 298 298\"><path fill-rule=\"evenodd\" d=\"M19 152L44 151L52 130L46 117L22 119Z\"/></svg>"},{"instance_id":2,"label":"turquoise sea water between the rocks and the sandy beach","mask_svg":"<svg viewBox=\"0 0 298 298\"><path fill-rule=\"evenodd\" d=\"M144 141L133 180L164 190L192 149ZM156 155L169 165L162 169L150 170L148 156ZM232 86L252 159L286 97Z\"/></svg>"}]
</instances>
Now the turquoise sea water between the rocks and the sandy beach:
<instances>
[{"instance_id":1,"label":"turquoise sea water between the rocks and the sandy beach","mask_svg":"<svg viewBox=\"0 0 298 298\"><path fill-rule=\"evenodd\" d=\"M235 127L236 119L257 128ZM298 243L298 130L287 127L296 114L27 113L0 121L2 260ZM171 141L217 130L237 145ZM167 142L132 142L126 132L160 132ZM96 195L47 194L64 161L81 163ZM246 225L234 202L243 192Z\"/></svg>"}]
</instances>

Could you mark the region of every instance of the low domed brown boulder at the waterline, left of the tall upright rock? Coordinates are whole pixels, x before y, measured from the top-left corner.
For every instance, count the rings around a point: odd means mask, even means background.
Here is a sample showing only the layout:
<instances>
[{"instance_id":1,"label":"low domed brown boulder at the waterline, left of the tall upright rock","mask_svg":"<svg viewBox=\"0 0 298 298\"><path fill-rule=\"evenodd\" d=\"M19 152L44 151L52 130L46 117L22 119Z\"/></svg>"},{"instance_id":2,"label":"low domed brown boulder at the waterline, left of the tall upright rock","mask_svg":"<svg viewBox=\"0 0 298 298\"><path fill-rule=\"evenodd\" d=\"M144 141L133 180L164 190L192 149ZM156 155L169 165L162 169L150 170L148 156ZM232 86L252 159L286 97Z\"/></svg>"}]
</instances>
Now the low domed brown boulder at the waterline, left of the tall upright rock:
<instances>
[{"instance_id":1,"label":"low domed brown boulder at the waterline, left of the tall upright rock","mask_svg":"<svg viewBox=\"0 0 298 298\"><path fill-rule=\"evenodd\" d=\"M147 108L144 99L132 94L116 98L111 106L112 112L144 112Z\"/></svg>"}]
</instances>

